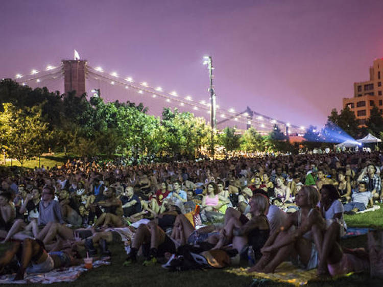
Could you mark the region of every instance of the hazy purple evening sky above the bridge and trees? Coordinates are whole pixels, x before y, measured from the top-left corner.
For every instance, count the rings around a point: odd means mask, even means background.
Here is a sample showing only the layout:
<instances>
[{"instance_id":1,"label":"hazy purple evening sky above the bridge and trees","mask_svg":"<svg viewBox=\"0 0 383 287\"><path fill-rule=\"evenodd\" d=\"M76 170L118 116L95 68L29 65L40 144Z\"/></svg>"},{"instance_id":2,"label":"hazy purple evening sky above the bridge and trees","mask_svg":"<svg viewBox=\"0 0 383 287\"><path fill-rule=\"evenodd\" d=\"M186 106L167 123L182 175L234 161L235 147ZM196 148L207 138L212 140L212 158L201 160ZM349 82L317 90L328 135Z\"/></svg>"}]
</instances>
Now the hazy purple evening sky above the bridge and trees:
<instances>
[{"instance_id":1,"label":"hazy purple evening sky above the bridge and trees","mask_svg":"<svg viewBox=\"0 0 383 287\"><path fill-rule=\"evenodd\" d=\"M323 125L383 57L382 12L381 0L5 1L0 78L77 49L93 67L208 100L211 55L220 106Z\"/></svg>"}]
</instances>

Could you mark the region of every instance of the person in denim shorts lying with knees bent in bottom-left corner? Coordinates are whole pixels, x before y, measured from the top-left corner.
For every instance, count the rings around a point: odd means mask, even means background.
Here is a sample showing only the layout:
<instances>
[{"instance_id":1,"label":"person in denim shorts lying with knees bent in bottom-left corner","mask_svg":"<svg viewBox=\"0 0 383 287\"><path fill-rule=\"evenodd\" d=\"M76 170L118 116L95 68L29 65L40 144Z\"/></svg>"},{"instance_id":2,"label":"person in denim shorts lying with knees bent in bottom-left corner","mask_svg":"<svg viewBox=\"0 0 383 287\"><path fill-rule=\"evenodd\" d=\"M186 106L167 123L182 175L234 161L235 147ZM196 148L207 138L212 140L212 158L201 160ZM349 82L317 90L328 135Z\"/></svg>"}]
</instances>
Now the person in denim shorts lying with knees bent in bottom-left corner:
<instances>
[{"instance_id":1,"label":"person in denim shorts lying with knees bent in bottom-left corner","mask_svg":"<svg viewBox=\"0 0 383 287\"><path fill-rule=\"evenodd\" d=\"M71 249L47 253L44 244L39 240L26 238L17 241L0 258L0 274L16 255L19 269L13 280L24 279L27 273L45 273L55 268L68 267L79 264L82 260L78 252Z\"/></svg>"}]
</instances>

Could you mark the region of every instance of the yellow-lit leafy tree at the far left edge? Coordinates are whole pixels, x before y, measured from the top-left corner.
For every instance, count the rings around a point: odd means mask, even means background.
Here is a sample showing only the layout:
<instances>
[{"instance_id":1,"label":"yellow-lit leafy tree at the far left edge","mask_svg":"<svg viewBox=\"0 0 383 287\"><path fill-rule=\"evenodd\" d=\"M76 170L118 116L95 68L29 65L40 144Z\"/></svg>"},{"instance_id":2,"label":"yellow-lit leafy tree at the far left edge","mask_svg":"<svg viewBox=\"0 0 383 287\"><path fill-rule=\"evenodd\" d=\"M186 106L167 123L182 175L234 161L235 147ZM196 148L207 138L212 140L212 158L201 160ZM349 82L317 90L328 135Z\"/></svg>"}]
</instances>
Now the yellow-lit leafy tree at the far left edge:
<instances>
[{"instance_id":1,"label":"yellow-lit leafy tree at the far left edge","mask_svg":"<svg viewBox=\"0 0 383 287\"><path fill-rule=\"evenodd\" d=\"M8 147L8 154L21 164L33 156L40 155L50 137L47 123L41 121L41 108L16 108L3 104L0 114L0 139Z\"/></svg>"}]
</instances>

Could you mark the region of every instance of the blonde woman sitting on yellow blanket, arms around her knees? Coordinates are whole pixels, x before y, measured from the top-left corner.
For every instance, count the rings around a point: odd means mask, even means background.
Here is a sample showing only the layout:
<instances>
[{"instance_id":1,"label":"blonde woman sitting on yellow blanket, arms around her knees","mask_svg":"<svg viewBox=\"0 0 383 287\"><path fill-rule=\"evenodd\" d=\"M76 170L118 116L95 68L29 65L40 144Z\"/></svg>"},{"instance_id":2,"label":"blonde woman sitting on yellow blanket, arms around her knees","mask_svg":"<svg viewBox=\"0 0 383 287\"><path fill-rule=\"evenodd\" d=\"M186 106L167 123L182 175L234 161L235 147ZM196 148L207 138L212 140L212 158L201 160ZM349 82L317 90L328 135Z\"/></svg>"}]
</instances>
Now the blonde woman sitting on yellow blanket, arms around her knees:
<instances>
[{"instance_id":1,"label":"blonde woman sitting on yellow blanket, arms around her knees","mask_svg":"<svg viewBox=\"0 0 383 287\"><path fill-rule=\"evenodd\" d=\"M287 259L292 251L298 254L299 261L306 269L318 265L319 237L326 225L320 211L316 208L319 192L313 186L303 186L296 195L296 204L300 210L288 216L284 226L274 232L261 249L262 257L249 272L273 273L275 268ZM290 227L296 226L294 231ZM316 242L316 244L314 244Z\"/></svg>"}]
</instances>

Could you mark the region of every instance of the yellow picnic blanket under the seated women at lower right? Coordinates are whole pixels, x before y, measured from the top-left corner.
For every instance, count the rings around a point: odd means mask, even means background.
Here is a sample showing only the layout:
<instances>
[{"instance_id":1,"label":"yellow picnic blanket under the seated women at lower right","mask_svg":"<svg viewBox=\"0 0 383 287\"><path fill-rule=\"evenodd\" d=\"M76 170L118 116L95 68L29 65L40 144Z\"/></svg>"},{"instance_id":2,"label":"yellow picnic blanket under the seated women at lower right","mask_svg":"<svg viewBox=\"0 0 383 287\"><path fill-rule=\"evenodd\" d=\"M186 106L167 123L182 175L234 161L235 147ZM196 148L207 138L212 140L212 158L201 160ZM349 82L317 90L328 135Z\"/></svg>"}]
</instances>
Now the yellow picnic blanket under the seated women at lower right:
<instances>
[{"instance_id":1,"label":"yellow picnic blanket under the seated women at lower right","mask_svg":"<svg viewBox=\"0 0 383 287\"><path fill-rule=\"evenodd\" d=\"M272 280L275 282L290 283L295 286L305 285L308 280L317 277L317 269L302 270L295 267L291 262L282 262L274 273L261 273L251 272L248 273L246 268L235 268L226 270L226 272L233 273L240 276L252 276L255 279L264 281Z\"/></svg>"}]
</instances>

